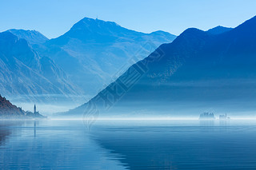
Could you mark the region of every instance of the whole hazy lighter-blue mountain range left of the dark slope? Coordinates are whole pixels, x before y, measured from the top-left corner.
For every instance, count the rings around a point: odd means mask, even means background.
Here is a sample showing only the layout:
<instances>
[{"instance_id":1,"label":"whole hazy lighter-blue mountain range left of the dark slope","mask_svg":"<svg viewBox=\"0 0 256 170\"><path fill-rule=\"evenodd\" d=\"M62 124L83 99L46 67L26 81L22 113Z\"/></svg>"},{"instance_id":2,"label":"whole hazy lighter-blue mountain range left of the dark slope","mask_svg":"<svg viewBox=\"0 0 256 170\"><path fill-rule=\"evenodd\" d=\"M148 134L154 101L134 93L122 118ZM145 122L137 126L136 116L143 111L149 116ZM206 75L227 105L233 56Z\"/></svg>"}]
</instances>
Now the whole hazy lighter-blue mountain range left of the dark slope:
<instances>
[{"instance_id":1,"label":"whole hazy lighter-blue mountain range left of the dark slope","mask_svg":"<svg viewBox=\"0 0 256 170\"><path fill-rule=\"evenodd\" d=\"M7 30L0 34L1 94L14 101L85 101L174 38L90 18L50 40L35 30Z\"/></svg>"}]
</instances>

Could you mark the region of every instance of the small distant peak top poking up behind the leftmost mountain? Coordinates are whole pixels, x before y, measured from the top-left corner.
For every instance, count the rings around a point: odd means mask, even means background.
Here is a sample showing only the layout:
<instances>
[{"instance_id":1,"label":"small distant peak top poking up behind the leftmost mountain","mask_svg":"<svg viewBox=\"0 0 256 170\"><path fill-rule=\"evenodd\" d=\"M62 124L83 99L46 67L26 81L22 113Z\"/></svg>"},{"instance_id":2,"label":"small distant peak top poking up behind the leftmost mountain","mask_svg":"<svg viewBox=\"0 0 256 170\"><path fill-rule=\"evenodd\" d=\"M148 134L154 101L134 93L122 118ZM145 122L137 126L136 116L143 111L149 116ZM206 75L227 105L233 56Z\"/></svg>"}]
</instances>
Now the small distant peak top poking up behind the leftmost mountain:
<instances>
[{"instance_id":1,"label":"small distant peak top poking up behind the leftmost mountain","mask_svg":"<svg viewBox=\"0 0 256 170\"><path fill-rule=\"evenodd\" d=\"M34 44L42 44L49 39L46 38L43 34L39 33L36 30L16 30L16 29L11 29L7 30L11 34L16 35L18 38L23 38L26 39L27 42L30 43L30 45Z\"/></svg>"}]
</instances>

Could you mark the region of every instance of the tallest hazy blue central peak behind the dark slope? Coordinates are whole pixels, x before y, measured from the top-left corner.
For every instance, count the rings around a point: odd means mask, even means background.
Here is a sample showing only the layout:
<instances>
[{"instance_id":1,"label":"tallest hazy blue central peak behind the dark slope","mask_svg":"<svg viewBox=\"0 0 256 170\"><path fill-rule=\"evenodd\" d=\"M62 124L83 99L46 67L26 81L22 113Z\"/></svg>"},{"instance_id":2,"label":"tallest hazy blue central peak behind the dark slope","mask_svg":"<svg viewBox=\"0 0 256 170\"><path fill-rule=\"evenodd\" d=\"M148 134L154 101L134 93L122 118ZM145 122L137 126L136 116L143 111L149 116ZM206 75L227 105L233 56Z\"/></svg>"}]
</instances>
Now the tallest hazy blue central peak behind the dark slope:
<instances>
[{"instance_id":1,"label":"tallest hazy blue central peak behind the dark slope","mask_svg":"<svg viewBox=\"0 0 256 170\"><path fill-rule=\"evenodd\" d=\"M115 22L83 18L66 34L34 49L54 60L84 94L93 97L130 65L174 38L163 31L144 34Z\"/></svg>"}]
</instances>

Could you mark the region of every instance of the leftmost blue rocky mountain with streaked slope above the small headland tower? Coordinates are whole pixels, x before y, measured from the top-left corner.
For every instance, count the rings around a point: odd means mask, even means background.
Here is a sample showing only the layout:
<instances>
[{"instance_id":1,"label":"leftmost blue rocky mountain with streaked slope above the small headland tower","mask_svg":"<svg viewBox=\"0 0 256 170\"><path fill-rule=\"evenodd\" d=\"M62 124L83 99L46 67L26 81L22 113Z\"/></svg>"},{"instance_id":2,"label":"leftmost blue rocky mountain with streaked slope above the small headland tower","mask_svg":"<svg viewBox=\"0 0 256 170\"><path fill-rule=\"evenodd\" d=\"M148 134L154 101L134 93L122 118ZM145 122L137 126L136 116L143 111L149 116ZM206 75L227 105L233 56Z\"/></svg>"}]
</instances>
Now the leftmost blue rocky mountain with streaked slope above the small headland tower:
<instances>
[{"instance_id":1,"label":"leftmost blue rocky mountain with streaked slope above the small headland tower","mask_svg":"<svg viewBox=\"0 0 256 170\"><path fill-rule=\"evenodd\" d=\"M58 101L58 95L77 95L78 87L70 83L54 61L39 56L30 43L10 31L0 33L0 87L2 95L12 101Z\"/></svg>"}]
</instances>

